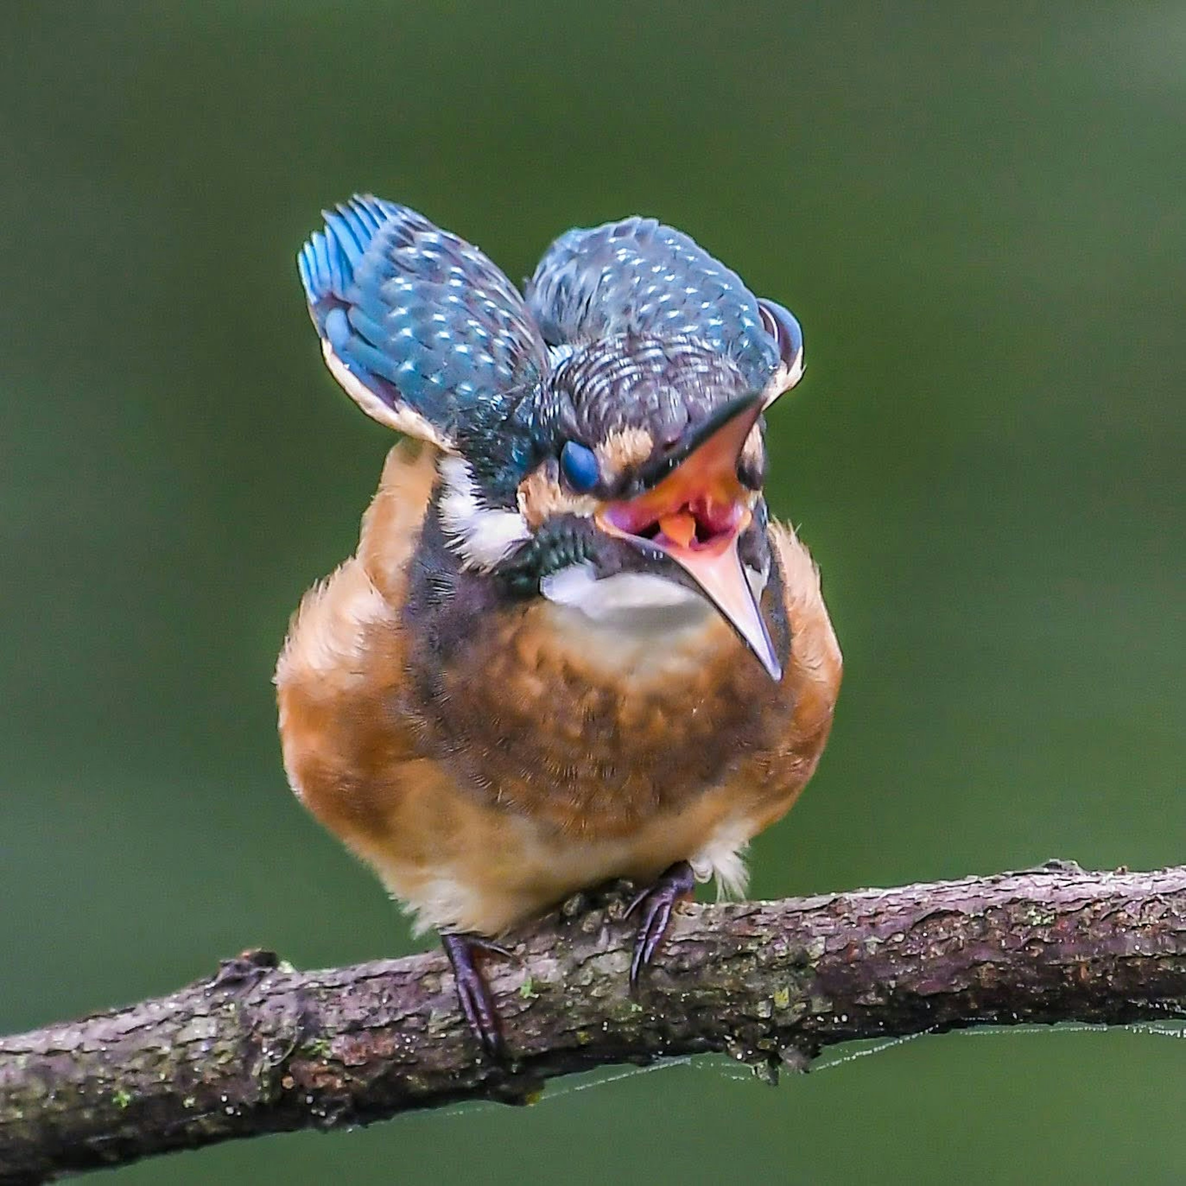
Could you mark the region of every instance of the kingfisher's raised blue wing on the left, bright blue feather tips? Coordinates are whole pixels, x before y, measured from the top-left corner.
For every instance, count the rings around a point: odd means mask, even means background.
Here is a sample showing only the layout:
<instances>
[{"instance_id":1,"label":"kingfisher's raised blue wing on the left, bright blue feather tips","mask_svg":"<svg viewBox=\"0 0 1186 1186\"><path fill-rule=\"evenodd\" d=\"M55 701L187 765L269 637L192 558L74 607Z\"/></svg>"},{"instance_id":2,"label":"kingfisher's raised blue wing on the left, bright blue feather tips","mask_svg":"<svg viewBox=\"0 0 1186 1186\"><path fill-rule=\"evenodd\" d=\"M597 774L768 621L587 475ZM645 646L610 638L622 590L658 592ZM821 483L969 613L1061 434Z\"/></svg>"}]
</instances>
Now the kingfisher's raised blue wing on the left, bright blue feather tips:
<instances>
[{"instance_id":1,"label":"kingfisher's raised blue wing on the left, bright blue feather tips","mask_svg":"<svg viewBox=\"0 0 1186 1186\"><path fill-rule=\"evenodd\" d=\"M325 211L296 257L334 378L368 415L452 451L470 407L534 387L546 347L485 255L371 196Z\"/></svg>"}]
</instances>

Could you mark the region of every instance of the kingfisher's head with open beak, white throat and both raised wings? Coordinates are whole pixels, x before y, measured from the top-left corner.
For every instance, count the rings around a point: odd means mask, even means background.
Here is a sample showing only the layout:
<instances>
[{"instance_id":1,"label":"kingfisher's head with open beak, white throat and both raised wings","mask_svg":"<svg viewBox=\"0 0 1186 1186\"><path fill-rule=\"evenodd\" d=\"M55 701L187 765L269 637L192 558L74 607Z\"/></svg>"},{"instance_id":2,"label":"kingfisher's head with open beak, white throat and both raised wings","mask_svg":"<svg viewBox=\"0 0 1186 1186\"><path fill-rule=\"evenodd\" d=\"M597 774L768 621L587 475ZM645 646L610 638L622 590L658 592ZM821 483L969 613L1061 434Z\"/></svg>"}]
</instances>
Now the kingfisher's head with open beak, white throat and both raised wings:
<instances>
[{"instance_id":1,"label":"kingfisher's head with open beak, white throat and both raised wings","mask_svg":"<svg viewBox=\"0 0 1186 1186\"><path fill-rule=\"evenodd\" d=\"M772 678L763 413L798 323L650 219L569 231L525 300L482 253L356 198L300 255L331 371L440 451L461 567L610 625L715 607Z\"/></svg>"}]
</instances>

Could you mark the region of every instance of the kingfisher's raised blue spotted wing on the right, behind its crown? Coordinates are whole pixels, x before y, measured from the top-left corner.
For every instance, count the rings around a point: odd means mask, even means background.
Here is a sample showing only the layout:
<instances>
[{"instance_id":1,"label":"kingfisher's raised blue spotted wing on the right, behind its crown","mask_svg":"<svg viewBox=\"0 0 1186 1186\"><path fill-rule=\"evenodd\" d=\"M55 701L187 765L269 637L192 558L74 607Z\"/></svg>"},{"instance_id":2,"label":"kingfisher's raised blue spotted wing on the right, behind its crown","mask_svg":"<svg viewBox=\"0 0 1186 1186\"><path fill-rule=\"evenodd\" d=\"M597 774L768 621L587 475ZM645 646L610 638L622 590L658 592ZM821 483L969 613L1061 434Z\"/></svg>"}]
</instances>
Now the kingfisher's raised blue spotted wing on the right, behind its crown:
<instances>
[{"instance_id":1,"label":"kingfisher's raised blue spotted wing on the right, behind its crown","mask_svg":"<svg viewBox=\"0 0 1186 1186\"><path fill-rule=\"evenodd\" d=\"M626 218L561 235L525 298L544 340L580 344L619 333L696 338L733 359L755 389L802 371L795 318L682 231ZM786 383L792 385L795 380ZM785 389L785 388L783 388Z\"/></svg>"}]
</instances>

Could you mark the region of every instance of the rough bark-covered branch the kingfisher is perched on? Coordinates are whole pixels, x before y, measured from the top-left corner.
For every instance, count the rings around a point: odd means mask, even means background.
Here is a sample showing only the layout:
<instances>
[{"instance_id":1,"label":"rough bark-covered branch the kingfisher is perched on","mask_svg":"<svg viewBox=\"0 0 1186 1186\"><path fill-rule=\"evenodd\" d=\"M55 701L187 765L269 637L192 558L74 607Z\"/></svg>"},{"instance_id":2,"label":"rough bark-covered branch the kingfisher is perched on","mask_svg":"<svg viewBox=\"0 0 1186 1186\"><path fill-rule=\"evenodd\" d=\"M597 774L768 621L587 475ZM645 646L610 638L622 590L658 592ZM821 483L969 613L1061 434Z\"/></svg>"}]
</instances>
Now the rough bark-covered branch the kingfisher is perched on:
<instances>
[{"instance_id":1,"label":"rough bark-covered branch the kingfisher is perched on","mask_svg":"<svg viewBox=\"0 0 1186 1186\"><path fill-rule=\"evenodd\" d=\"M1186 1015L1186 867L1040 869L686 907L637 1000L623 899L570 903L492 961L514 1067L477 1058L442 956L298 973L244 952L172 996L0 1039L0 1182L527 1103L607 1063L725 1051L771 1076L855 1038Z\"/></svg>"}]
</instances>

